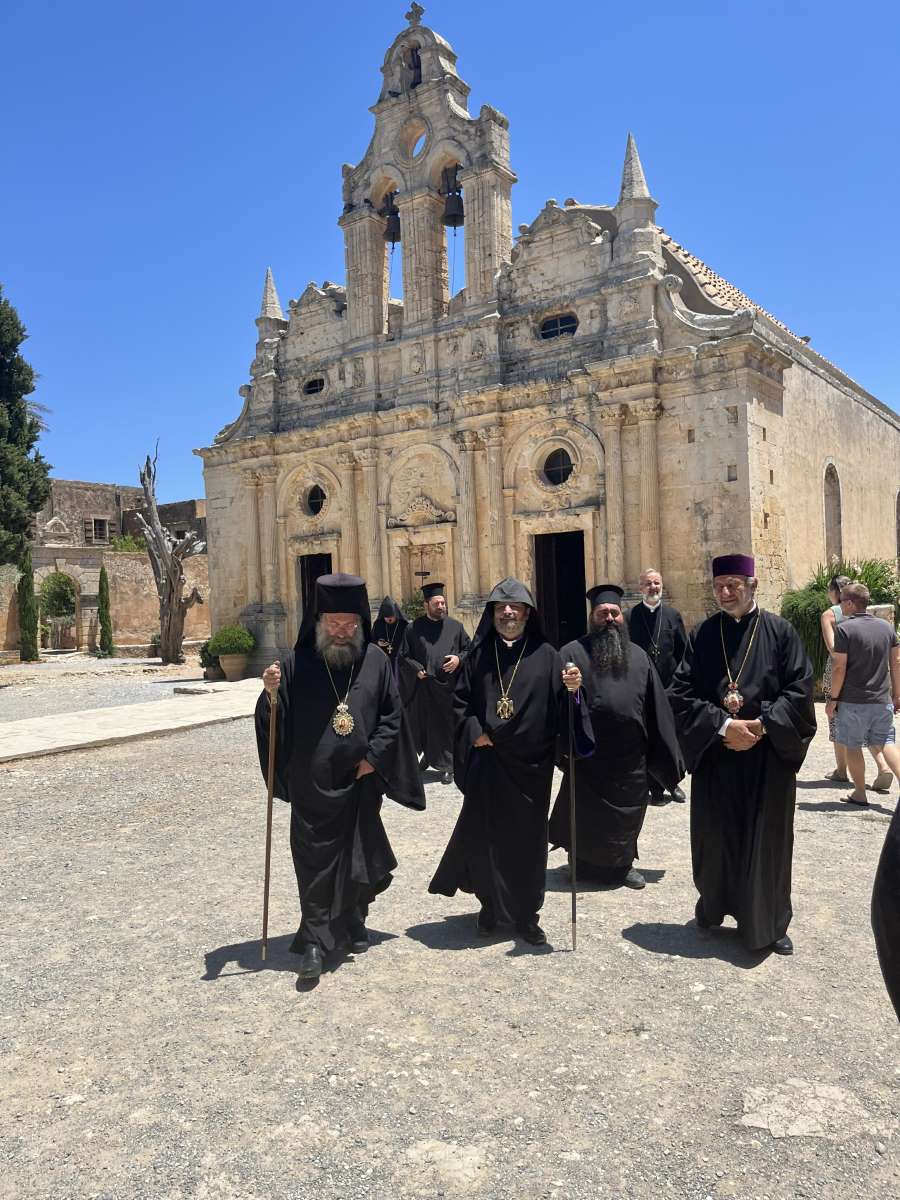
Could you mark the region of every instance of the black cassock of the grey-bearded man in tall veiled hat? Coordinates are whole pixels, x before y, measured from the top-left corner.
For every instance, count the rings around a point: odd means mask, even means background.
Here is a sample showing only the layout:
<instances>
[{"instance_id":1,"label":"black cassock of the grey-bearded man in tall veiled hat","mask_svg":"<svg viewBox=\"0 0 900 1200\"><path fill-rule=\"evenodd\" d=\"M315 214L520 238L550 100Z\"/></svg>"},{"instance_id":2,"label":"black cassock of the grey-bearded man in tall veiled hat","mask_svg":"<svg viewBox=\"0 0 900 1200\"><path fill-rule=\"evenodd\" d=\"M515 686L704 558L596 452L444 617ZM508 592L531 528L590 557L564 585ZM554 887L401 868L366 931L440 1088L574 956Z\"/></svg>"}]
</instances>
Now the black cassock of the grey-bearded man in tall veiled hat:
<instances>
[{"instance_id":1,"label":"black cassock of the grey-bearded man in tall veiled hat","mask_svg":"<svg viewBox=\"0 0 900 1200\"><path fill-rule=\"evenodd\" d=\"M331 676L343 700L350 671L332 667ZM383 797L425 806L421 787L407 787L410 767L398 763L400 695L382 650L367 646L354 667L348 697L354 728L344 737L331 727L336 704L324 659L311 646L298 646L281 664L275 761L275 794L290 803L290 853L300 893L293 950L310 942L323 953L334 949L348 918L355 911L365 917L371 900L390 884L397 863L382 824ZM256 732L264 778L269 713L263 691ZM356 780L362 758L376 769Z\"/></svg>"}]
</instances>

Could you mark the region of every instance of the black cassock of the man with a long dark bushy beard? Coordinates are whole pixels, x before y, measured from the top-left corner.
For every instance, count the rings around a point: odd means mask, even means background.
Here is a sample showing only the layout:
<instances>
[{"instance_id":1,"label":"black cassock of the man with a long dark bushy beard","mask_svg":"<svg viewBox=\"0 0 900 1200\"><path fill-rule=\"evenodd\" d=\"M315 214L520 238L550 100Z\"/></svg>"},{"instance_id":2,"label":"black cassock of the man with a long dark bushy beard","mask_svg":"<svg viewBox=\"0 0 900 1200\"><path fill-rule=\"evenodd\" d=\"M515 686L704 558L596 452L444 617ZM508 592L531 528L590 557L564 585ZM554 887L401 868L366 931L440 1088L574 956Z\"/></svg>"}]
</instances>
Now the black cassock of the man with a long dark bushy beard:
<instances>
[{"instance_id":1,"label":"black cassock of the man with a long dark bushy beard","mask_svg":"<svg viewBox=\"0 0 900 1200\"><path fill-rule=\"evenodd\" d=\"M672 709L640 646L629 647L628 673L619 679L592 667L589 636L570 642L559 654L581 671L581 702L587 706L594 734L594 754L575 766L577 865L582 874L616 882L637 858L648 773L658 787L670 790L684 774ZM568 748L564 754L565 773L550 818L550 841L570 850Z\"/></svg>"}]
</instances>

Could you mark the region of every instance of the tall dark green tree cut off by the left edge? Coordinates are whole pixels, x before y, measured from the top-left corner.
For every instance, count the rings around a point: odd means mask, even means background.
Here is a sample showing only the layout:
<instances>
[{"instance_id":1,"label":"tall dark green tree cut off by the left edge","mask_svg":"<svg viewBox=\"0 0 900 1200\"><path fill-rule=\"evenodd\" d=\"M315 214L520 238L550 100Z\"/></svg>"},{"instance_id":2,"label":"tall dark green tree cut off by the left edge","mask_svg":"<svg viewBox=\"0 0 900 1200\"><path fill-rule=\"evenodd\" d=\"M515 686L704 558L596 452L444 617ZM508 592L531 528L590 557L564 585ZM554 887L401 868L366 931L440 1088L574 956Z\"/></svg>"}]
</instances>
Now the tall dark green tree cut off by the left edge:
<instances>
[{"instance_id":1,"label":"tall dark green tree cut off by the left edge","mask_svg":"<svg viewBox=\"0 0 900 1200\"><path fill-rule=\"evenodd\" d=\"M0 288L0 563L24 568L34 515L50 494L49 466L35 450L41 421L25 400L35 372L19 354L26 337Z\"/></svg>"}]
</instances>

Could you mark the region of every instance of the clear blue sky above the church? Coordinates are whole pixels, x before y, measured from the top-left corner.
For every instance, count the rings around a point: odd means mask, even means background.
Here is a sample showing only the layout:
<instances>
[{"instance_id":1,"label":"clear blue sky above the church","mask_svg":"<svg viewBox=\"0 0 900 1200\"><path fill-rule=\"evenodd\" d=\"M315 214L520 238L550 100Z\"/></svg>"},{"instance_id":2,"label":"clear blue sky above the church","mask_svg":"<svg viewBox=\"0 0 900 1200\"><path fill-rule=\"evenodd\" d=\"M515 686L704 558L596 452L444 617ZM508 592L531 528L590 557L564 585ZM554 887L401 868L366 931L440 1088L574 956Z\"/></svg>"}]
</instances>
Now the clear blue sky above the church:
<instances>
[{"instance_id":1,"label":"clear blue sky above the church","mask_svg":"<svg viewBox=\"0 0 900 1200\"><path fill-rule=\"evenodd\" d=\"M4 6L0 281L64 479L203 494L263 276L343 280L341 163L408 5ZM900 6L432 0L470 112L510 118L514 227L614 203L631 128L676 239L898 407Z\"/></svg>"}]
</instances>

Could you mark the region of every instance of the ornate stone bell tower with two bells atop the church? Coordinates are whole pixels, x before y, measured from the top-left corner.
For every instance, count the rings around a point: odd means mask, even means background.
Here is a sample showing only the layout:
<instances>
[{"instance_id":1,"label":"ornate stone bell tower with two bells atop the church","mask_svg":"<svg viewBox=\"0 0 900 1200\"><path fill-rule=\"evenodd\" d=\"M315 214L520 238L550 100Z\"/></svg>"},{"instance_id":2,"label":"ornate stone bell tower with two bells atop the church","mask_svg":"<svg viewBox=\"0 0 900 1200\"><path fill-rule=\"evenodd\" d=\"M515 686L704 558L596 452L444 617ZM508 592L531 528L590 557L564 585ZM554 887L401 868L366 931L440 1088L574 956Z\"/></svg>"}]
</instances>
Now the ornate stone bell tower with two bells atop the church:
<instances>
[{"instance_id":1,"label":"ornate stone bell tower with two bells atop the church","mask_svg":"<svg viewBox=\"0 0 900 1200\"><path fill-rule=\"evenodd\" d=\"M385 54L372 142L343 168L349 332L361 344L386 332L391 245L403 256L404 334L448 312L446 227L466 228L467 313L496 306L512 247L509 122L487 104L469 115L456 54L421 24L424 11L413 4Z\"/></svg>"}]
</instances>

